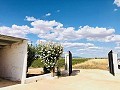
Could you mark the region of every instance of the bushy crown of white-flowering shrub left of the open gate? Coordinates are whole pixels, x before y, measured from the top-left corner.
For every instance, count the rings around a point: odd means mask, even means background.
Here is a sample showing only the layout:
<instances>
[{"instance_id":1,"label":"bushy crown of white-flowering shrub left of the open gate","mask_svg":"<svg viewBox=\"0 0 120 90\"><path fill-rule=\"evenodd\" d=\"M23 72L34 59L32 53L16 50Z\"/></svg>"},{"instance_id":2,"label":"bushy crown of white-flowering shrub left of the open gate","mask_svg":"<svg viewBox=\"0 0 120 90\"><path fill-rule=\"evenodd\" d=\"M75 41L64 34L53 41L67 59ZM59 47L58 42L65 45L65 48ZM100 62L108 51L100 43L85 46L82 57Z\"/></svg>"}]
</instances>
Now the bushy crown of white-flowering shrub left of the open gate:
<instances>
[{"instance_id":1,"label":"bushy crown of white-flowering shrub left of the open gate","mask_svg":"<svg viewBox=\"0 0 120 90\"><path fill-rule=\"evenodd\" d=\"M57 61L63 53L63 47L58 43L41 42L37 47L37 51L42 59L44 67L50 70L57 64Z\"/></svg>"}]
</instances>

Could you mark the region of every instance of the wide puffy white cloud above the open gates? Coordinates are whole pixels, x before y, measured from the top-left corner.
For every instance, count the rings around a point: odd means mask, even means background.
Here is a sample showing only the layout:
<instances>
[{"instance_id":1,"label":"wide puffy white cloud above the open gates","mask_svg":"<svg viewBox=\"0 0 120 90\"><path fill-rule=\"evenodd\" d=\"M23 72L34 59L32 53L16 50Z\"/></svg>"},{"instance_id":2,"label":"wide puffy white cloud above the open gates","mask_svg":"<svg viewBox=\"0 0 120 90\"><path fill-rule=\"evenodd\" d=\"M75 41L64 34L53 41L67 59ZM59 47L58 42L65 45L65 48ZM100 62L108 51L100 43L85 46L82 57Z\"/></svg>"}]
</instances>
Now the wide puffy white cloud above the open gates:
<instances>
[{"instance_id":1,"label":"wide puffy white cloud above the open gates","mask_svg":"<svg viewBox=\"0 0 120 90\"><path fill-rule=\"evenodd\" d=\"M107 36L113 35L115 29L107 29L101 27L94 28L90 26L84 26L84 27L80 27L80 29L76 32L78 35L90 41L105 41L104 39Z\"/></svg>"}]
</instances>

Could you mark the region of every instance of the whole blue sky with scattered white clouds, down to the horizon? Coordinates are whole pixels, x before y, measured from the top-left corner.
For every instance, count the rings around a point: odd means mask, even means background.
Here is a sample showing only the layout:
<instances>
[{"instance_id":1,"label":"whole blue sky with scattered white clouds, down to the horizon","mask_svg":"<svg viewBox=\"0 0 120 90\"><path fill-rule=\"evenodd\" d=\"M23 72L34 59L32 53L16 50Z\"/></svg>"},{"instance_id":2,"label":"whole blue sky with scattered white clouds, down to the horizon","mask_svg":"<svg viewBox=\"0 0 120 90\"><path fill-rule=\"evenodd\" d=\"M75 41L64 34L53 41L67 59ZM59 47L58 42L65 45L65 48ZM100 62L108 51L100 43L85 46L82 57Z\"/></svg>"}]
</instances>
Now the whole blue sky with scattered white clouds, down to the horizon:
<instances>
[{"instance_id":1,"label":"whole blue sky with scattered white clouds, down to the horizon","mask_svg":"<svg viewBox=\"0 0 120 90\"><path fill-rule=\"evenodd\" d=\"M57 42L79 57L120 52L120 0L0 0L0 34Z\"/></svg>"}]
</instances>

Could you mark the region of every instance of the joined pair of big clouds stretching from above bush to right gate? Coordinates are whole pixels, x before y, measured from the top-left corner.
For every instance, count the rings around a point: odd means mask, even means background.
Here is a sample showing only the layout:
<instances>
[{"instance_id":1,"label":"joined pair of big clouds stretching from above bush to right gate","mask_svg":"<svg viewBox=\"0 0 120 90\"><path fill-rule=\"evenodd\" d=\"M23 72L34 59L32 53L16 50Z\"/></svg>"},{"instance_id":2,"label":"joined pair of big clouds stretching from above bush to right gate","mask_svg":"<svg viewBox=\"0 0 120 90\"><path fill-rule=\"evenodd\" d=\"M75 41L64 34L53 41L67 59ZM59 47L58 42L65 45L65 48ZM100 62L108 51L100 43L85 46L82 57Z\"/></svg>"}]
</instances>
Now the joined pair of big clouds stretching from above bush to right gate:
<instances>
[{"instance_id":1,"label":"joined pair of big clouds stretching from above bush to right gate","mask_svg":"<svg viewBox=\"0 0 120 90\"><path fill-rule=\"evenodd\" d=\"M90 41L110 42L109 37L114 35L115 29L102 27L83 26L79 30L74 27L64 28L63 24L52 21L36 20L31 22L31 33L37 34L38 37L47 40L71 41L87 39ZM111 41L113 41L111 39Z\"/></svg>"}]
</instances>

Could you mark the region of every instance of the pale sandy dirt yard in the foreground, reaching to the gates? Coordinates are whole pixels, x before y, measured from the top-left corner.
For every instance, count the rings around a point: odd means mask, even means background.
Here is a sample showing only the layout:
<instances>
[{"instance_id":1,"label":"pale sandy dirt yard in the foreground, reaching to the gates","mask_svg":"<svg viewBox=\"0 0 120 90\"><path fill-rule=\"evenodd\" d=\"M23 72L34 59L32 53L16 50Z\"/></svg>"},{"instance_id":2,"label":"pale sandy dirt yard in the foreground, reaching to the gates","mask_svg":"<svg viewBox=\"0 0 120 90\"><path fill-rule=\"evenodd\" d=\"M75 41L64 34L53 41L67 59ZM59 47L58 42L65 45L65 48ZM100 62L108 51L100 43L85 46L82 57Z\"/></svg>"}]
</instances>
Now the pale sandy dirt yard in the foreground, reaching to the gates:
<instances>
[{"instance_id":1,"label":"pale sandy dirt yard in the foreground, reaching to the gates","mask_svg":"<svg viewBox=\"0 0 120 90\"><path fill-rule=\"evenodd\" d=\"M107 70L73 70L72 76L44 79L35 83L18 84L0 90L120 90L120 75Z\"/></svg>"}]
</instances>

